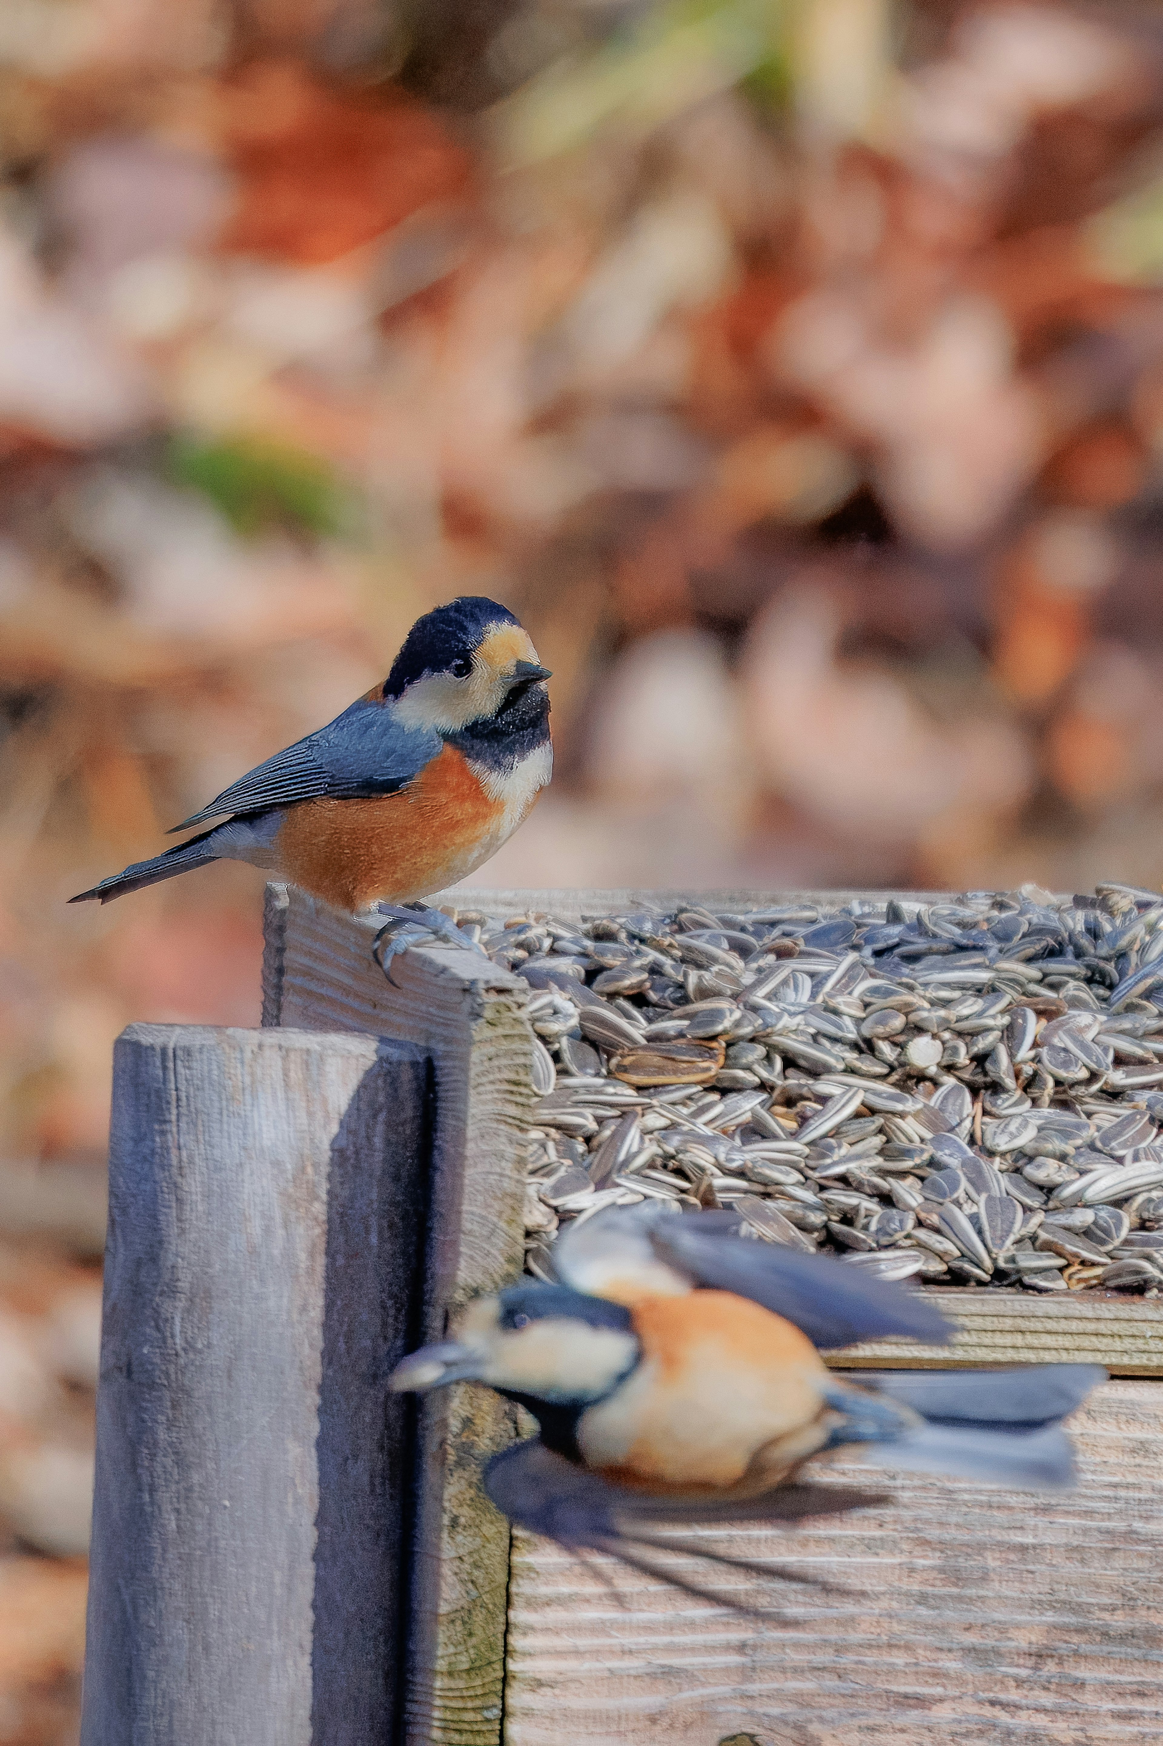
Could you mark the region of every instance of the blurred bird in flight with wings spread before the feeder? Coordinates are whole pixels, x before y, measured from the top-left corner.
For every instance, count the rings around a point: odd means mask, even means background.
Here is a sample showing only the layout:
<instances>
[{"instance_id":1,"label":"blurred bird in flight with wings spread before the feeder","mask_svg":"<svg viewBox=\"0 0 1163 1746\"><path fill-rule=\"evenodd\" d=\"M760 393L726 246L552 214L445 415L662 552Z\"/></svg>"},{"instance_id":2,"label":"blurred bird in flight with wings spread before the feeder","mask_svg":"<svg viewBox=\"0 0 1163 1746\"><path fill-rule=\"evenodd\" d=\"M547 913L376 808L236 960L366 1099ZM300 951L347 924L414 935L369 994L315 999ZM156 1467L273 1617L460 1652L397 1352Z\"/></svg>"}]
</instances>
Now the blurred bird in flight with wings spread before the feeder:
<instances>
[{"instance_id":1,"label":"blurred bird in flight with wings spread before the feeder","mask_svg":"<svg viewBox=\"0 0 1163 1746\"><path fill-rule=\"evenodd\" d=\"M476 1381L528 1407L541 1435L490 1461L493 1503L563 1545L650 1570L650 1549L666 1547L652 1529L668 1523L879 1502L800 1477L844 1446L882 1467L1071 1484L1057 1423L1105 1371L828 1371L821 1350L886 1336L940 1344L952 1329L921 1296L738 1229L731 1213L657 1203L596 1213L558 1240L560 1285L478 1299L457 1337L405 1358L392 1386Z\"/></svg>"}]
</instances>

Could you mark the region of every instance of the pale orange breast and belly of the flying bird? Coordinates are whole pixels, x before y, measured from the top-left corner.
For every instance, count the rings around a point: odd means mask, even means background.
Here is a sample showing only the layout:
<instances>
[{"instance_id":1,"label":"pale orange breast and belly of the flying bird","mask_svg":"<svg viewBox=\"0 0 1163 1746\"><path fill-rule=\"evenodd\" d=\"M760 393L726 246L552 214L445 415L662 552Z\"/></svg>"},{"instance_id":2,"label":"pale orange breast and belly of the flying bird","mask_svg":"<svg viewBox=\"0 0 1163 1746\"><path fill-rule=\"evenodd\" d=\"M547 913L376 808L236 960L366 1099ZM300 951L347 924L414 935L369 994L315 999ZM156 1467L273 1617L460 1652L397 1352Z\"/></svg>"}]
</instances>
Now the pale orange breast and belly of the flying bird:
<instances>
[{"instance_id":1,"label":"pale orange breast and belly of the flying bird","mask_svg":"<svg viewBox=\"0 0 1163 1746\"><path fill-rule=\"evenodd\" d=\"M760 1451L802 1460L823 1440L826 1371L783 1316L696 1290L642 1299L633 1327L642 1364L579 1425L588 1465L652 1488L731 1488Z\"/></svg>"}]
</instances>

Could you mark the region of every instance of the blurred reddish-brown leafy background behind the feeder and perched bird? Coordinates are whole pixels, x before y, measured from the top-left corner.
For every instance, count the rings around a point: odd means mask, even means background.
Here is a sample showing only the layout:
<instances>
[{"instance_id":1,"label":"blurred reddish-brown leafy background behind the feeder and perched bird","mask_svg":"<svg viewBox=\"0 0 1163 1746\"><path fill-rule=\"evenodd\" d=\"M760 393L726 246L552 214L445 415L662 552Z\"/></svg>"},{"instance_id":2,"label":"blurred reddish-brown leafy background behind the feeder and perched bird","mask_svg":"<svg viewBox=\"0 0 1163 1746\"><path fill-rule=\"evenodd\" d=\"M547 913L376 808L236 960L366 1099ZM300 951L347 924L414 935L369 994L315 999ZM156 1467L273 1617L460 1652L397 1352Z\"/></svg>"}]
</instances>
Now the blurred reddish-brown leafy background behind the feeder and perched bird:
<instances>
[{"instance_id":1,"label":"blurred reddish-brown leafy background behind the feeder and perched bird","mask_svg":"<svg viewBox=\"0 0 1163 1746\"><path fill-rule=\"evenodd\" d=\"M1163 880L1163 10L0 7L0 1743L77 1732L110 1048L65 899L492 594L499 885Z\"/></svg>"}]
</instances>

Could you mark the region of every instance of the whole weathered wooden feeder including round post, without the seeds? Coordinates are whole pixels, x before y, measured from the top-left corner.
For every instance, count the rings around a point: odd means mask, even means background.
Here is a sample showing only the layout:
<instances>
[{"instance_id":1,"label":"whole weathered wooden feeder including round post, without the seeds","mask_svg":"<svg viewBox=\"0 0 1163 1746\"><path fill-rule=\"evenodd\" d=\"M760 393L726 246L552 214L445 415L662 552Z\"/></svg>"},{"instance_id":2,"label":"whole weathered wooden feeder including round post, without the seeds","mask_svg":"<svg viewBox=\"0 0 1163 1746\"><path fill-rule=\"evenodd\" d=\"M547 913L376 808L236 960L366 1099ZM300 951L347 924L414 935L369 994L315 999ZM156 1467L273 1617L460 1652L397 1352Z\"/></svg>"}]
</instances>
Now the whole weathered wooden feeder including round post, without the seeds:
<instances>
[{"instance_id":1,"label":"whole weathered wooden feeder including round post, without the seeds","mask_svg":"<svg viewBox=\"0 0 1163 1746\"><path fill-rule=\"evenodd\" d=\"M263 1028L117 1044L84 1746L1156 1741L1163 1301L952 1289L952 1351L839 1355L1112 1379L1071 1423L1072 1493L837 1465L889 1502L690 1533L833 1584L741 1578L783 1622L509 1533L478 1472L513 1411L387 1378L520 1273L525 985L443 945L391 983L373 936L269 887Z\"/></svg>"}]
</instances>

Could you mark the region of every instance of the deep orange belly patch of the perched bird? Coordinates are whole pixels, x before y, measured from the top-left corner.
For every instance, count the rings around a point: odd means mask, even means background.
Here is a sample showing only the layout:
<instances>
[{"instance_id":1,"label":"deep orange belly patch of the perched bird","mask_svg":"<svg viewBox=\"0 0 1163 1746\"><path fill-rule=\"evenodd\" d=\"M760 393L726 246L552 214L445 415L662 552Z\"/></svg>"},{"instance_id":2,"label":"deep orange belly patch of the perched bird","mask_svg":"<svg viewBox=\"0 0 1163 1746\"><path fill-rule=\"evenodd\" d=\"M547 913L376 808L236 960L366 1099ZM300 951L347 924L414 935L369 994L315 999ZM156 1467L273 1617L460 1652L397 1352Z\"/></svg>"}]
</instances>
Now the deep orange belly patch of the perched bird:
<instances>
[{"instance_id":1,"label":"deep orange belly patch of the perched bird","mask_svg":"<svg viewBox=\"0 0 1163 1746\"><path fill-rule=\"evenodd\" d=\"M452 885L492 854L504 805L446 746L398 794L303 800L275 842L281 871L338 910L410 903Z\"/></svg>"}]
</instances>

